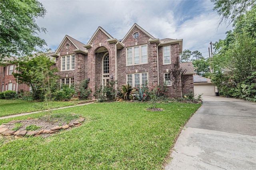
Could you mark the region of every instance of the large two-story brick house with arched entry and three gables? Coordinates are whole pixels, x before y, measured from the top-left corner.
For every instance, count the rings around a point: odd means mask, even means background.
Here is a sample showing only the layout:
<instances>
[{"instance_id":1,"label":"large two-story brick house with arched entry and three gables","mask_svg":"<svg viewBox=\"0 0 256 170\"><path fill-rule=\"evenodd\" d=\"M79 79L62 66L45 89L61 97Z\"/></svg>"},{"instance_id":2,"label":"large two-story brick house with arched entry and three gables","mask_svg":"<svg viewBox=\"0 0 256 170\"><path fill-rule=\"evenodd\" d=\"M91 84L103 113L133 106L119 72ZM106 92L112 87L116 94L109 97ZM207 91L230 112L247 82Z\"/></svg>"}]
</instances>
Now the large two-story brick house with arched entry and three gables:
<instances>
[{"instance_id":1,"label":"large two-story brick house with arched entry and three gables","mask_svg":"<svg viewBox=\"0 0 256 170\"><path fill-rule=\"evenodd\" d=\"M61 84L90 79L88 86L94 92L95 86L112 80L118 80L117 87L148 83L149 88L162 86L166 81L168 97L175 97L170 70L179 60L182 41L156 39L137 24L122 40L117 40L98 27L87 44L66 35L51 56L56 57ZM186 73L181 76L184 81L180 82L184 84L178 88L179 97L194 91L192 63L182 63L180 67Z\"/></svg>"}]
</instances>

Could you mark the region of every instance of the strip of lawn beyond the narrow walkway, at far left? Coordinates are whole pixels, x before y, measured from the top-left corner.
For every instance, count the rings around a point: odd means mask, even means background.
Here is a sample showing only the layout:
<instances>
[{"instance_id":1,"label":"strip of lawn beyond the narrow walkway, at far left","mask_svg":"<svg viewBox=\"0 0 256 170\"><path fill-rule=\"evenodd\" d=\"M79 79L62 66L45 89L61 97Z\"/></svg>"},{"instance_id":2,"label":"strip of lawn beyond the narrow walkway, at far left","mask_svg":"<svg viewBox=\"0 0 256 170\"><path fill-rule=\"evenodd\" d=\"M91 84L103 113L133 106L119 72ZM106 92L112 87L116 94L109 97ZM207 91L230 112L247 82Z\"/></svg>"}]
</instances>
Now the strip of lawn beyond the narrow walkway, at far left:
<instances>
[{"instance_id":1,"label":"strip of lawn beyond the narrow walkway, at far left","mask_svg":"<svg viewBox=\"0 0 256 170\"><path fill-rule=\"evenodd\" d=\"M75 105L70 102L51 101L49 106L54 108ZM30 102L23 100L5 100L0 99L0 117L16 115L20 113L28 113L34 111L42 111L47 109L46 102Z\"/></svg>"}]
</instances>

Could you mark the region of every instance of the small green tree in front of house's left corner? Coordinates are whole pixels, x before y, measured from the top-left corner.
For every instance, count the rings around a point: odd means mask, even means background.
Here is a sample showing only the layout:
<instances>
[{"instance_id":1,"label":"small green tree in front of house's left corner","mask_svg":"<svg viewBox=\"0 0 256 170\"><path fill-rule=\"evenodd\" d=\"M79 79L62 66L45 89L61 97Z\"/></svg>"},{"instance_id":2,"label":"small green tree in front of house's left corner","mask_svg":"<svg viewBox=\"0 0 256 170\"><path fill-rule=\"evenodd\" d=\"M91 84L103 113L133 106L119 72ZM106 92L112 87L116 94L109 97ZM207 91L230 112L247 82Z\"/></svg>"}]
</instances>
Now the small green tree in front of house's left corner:
<instances>
[{"instance_id":1,"label":"small green tree in front of house's left corner","mask_svg":"<svg viewBox=\"0 0 256 170\"><path fill-rule=\"evenodd\" d=\"M54 61L44 53L30 58L24 58L19 62L18 73L13 73L19 83L24 83L32 88L34 100L42 100L45 97L52 98L52 93L58 88L58 69L54 67Z\"/></svg>"}]
</instances>

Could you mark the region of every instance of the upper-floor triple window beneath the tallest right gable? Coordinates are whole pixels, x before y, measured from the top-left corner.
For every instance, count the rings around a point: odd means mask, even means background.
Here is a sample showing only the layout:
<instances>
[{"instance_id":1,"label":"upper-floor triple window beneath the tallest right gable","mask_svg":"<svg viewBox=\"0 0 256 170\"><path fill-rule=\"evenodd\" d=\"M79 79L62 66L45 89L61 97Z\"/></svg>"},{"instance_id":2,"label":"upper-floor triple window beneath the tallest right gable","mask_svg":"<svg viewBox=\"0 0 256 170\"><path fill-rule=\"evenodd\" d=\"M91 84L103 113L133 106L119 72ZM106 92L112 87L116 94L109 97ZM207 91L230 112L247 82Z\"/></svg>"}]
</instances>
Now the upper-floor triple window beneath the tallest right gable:
<instances>
[{"instance_id":1,"label":"upper-floor triple window beneath the tallest right gable","mask_svg":"<svg viewBox=\"0 0 256 170\"><path fill-rule=\"evenodd\" d=\"M127 65L148 63L148 45L126 49Z\"/></svg>"}]
</instances>

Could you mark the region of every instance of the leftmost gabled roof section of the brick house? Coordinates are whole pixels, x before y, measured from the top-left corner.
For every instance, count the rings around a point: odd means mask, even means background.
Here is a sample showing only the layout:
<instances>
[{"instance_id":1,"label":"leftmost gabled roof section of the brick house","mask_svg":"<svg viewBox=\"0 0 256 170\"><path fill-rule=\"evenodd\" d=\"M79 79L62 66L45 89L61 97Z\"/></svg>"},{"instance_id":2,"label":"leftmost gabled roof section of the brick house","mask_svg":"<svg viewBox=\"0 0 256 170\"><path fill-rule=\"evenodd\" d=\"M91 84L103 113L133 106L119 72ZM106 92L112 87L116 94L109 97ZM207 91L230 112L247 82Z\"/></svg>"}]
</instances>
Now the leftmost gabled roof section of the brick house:
<instances>
[{"instance_id":1,"label":"leftmost gabled roof section of the brick house","mask_svg":"<svg viewBox=\"0 0 256 170\"><path fill-rule=\"evenodd\" d=\"M62 42L60 43L60 45L58 46L58 48L56 49L56 51L54 52L54 54L52 54L51 56L53 56L53 57L56 57L56 56L58 56L58 53L59 53L59 51L60 51L60 49L61 49L61 47L63 46L63 44L66 42L66 40L70 40L70 42L72 43L72 44L74 44L74 46L76 47L76 50L73 50L73 51L83 51L84 53L86 53L86 48L84 47L84 43L81 43L81 42L79 42L78 40L76 40L76 39L74 39L74 38L72 38L72 37L70 37L70 36L68 36L68 35L66 35L64 38L63 38L63 40L62 40Z\"/></svg>"}]
</instances>

